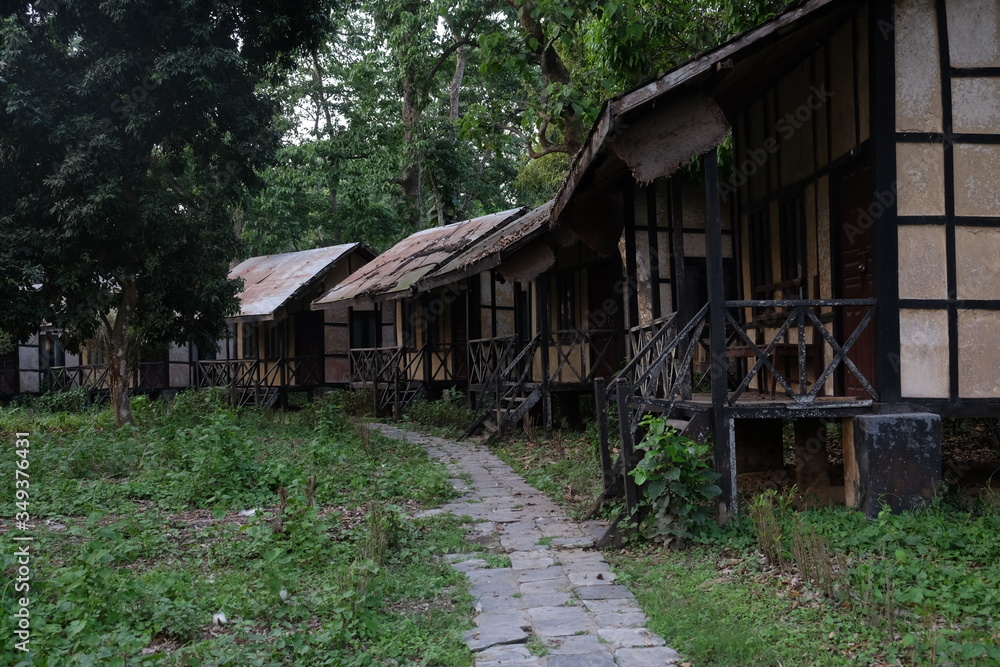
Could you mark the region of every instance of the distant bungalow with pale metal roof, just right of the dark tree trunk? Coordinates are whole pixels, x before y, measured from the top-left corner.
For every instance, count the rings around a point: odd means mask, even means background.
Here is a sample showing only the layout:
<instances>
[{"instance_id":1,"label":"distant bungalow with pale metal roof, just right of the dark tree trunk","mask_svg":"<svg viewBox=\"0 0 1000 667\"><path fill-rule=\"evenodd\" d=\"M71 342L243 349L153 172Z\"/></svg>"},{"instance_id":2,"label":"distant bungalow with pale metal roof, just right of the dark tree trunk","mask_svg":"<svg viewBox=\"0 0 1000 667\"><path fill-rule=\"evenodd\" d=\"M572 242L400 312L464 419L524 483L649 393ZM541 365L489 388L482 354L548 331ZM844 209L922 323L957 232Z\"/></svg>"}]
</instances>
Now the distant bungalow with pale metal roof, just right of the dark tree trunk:
<instances>
[{"instance_id":1,"label":"distant bungalow with pale metal roof, just right of the dark tree trunk","mask_svg":"<svg viewBox=\"0 0 1000 667\"><path fill-rule=\"evenodd\" d=\"M217 350L194 352L194 384L228 387L240 405L287 405L293 392L347 387L347 309L315 312L309 304L373 257L367 246L347 243L238 264L229 276L244 282L240 312Z\"/></svg>"}]
</instances>

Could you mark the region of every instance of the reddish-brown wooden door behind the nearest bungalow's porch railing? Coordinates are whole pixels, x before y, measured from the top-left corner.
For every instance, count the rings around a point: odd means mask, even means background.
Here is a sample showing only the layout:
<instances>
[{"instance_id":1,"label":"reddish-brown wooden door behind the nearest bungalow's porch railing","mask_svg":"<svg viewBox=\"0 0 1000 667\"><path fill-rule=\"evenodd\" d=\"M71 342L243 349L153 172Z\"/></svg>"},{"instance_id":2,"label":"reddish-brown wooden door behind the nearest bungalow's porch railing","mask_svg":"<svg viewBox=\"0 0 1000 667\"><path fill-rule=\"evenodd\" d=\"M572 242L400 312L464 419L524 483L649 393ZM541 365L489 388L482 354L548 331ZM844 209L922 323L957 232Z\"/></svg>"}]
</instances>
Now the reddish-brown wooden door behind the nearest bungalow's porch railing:
<instances>
[{"instance_id":1,"label":"reddish-brown wooden door behind the nearest bungalow's porch railing","mask_svg":"<svg viewBox=\"0 0 1000 667\"><path fill-rule=\"evenodd\" d=\"M875 200L875 174L868 160L844 167L835 181L836 227L833 231L836 257L835 275L837 297L841 299L870 299L875 296L875 266L872 261L872 240L875 225L872 203ZM841 344L861 323L870 307L843 308L838 314L837 340ZM847 355L862 375L875 382L875 322L873 321ZM854 373L841 367L841 389L845 396L864 396L868 393Z\"/></svg>"}]
</instances>

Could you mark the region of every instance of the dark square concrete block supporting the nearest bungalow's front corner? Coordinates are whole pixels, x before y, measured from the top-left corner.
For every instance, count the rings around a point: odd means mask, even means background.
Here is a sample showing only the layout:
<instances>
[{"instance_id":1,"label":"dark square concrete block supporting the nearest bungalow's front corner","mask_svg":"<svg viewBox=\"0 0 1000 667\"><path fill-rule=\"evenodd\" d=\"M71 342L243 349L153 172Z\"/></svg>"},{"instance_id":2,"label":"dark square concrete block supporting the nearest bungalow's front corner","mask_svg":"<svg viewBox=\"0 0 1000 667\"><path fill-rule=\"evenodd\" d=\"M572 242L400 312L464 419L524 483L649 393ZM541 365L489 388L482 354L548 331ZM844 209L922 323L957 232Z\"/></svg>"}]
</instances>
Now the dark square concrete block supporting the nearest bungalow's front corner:
<instances>
[{"instance_id":1,"label":"dark square concrete block supporting the nearest bungalow's front corner","mask_svg":"<svg viewBox=\"0 0 1000 667\"><path fill-rule=\"evenodd\" d=\"M941 418L930 413L859 415L844 429L844 492L870 517L882 503L919 507L941 483Z\"/></svg>"}]
</instances>

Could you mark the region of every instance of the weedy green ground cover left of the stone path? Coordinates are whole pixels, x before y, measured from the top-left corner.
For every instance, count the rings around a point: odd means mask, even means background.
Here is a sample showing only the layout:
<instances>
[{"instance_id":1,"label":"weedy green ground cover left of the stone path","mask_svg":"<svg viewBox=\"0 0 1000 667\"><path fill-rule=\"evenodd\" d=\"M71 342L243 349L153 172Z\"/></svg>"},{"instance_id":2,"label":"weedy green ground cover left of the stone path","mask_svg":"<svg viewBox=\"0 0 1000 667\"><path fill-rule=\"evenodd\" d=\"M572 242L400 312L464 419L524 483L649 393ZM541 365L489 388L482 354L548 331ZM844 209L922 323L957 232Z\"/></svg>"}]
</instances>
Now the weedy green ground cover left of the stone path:
<instances>
[{"instance_id":1,"label":"weedy green ground cover left of the stone path","mask_svg":"<svg viewBox=\"0 0 1000 667\"><path fill-rule=\"evenodd\" d=\"M418 446L351 422L336 397L280 413L190 393L135 414L116 429L108 411L0 411L4 442L32 434L35 522L33 651L5 646L0 665L471 662L472 602L440 558L469 549L465 526L411 518L453 494ZM14 465L0 462L4 517Z\"/></svg>"}]
</instances>

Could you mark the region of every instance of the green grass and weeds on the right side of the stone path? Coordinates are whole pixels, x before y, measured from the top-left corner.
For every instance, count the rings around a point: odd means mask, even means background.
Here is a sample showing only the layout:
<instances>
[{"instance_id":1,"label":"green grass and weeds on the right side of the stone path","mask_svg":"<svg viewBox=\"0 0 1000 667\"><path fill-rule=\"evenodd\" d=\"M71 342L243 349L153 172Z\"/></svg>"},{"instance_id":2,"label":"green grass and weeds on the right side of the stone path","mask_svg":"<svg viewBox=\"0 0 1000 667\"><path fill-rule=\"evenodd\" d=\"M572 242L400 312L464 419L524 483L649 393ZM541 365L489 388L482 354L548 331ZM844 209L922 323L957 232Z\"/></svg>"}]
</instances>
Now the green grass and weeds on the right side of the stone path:
<instances>
[{"instance_id":1,"label":"green grass and weeds on the right side of the stone path","mask_svg":"<svg viewBox=\"0 0 1000 667\"><path fill-rule=\"evenodd\" d=\"M592 443L569 442L579 444L520 440L500 451L565 503L567 489L599 479ZM684 550L633 540L607 556L649 627L695 667L1000 665L995 494L875 520L844 507L796 512L794 496L758 494Z\"/></svg>"}]
</instances>

